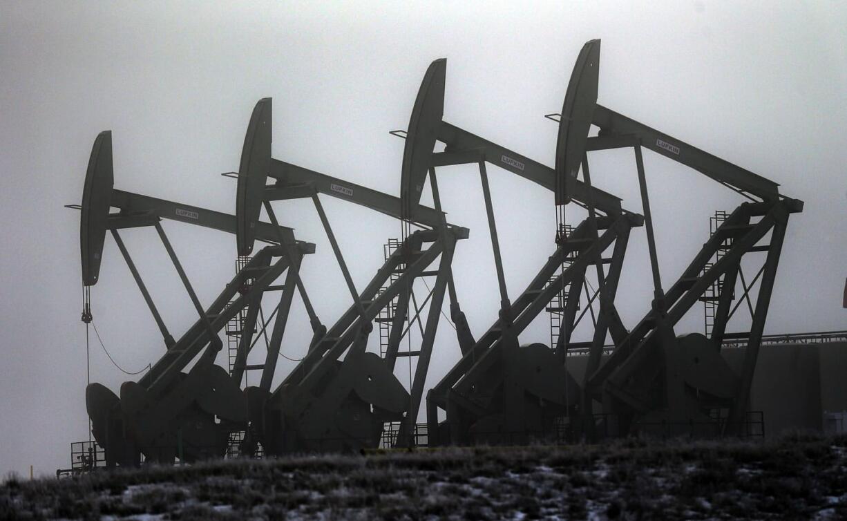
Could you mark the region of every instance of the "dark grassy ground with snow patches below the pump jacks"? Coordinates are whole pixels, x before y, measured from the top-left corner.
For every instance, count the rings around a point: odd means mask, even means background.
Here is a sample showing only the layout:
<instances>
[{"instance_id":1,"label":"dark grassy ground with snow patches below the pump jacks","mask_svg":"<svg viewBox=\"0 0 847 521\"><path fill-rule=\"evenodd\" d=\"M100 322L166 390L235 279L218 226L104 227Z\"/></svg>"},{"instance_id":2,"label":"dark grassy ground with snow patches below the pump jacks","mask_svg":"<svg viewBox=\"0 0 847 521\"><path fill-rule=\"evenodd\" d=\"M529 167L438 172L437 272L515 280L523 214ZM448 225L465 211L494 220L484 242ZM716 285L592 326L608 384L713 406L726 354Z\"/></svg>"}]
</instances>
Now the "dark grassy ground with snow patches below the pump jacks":
<instances>
[{"instance_id":1,"label":"dark grassy ground with snow patches below the pump jacks","mask_svg":"<svg viewBox=\"0 0 847 521\"><path fill-rule=\"evenodd\" d=\"M0 519L847 518L847 437L300 456L0 485Z\"/></svg>"}]
</instances>

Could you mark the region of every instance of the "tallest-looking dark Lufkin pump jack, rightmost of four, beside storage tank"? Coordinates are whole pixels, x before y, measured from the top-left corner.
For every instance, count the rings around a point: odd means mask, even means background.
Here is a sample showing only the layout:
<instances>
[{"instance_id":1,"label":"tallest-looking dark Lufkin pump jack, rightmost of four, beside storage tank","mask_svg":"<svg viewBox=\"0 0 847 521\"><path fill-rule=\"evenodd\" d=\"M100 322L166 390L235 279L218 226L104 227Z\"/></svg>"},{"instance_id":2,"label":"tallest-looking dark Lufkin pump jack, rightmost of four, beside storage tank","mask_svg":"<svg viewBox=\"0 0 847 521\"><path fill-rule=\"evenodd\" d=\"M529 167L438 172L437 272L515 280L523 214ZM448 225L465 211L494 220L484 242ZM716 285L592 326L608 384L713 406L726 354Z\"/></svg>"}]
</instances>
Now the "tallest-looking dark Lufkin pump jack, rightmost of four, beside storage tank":
<instances>
[{"instance_id":1,"label":"tallest-looking dark Lufkin pump jack, rightmost of four, beside storage tank","mask_svg":"<svg viewBox=\"0 0 847 521\"><path fill-rule=\"evenodd\" d=\"M587 42L573 69L571 82L578 88L567 119L562 119L567 122L572 146L561 158L556 197L567 199L580 163L583 174L588 174L587 152L634 149L645 208L654 300L644 319L623 339L616 339L616 347L605 363L598 367L599 354L592 352L586 396L601 400L604 413L617 415L622 435L639 430L659 431L662 435L742 435L786 224L791 213L802 211L803 202L780 195L778 185L771 180L598 104L599 60L600 41ZM589 137L591 125L600 129L595 137ZM740 204L717 227L667 292L662 289L656 259L642 147L695 169L750 200ZM719 249L722 256L709 263ZM766 258L747 285L741 259L754 252L765 253ZM760 277L755 310L750 304L752 325L745 360L741 373L735 374L720 356L722 338L739 278L744 290L741 298L749 302L750 288ZM713 284L717 284L716 294L706 295L706 289ZM705 298L717 302L711 335L677 336L674 326L679 319L695 302ZM590 405L590 399L586 403Z\"/></svg>"}]
</instances>

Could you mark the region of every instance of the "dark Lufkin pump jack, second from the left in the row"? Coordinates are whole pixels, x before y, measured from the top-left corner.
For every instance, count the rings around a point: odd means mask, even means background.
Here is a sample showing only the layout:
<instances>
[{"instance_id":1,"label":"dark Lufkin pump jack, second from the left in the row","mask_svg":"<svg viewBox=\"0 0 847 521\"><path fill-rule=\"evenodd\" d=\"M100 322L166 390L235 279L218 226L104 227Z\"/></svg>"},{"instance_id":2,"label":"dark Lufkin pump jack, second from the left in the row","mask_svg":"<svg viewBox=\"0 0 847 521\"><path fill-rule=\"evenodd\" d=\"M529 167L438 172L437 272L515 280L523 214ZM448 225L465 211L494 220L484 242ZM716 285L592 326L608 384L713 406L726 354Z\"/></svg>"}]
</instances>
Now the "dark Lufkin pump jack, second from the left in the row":
<instances>
[{"instance_id":1,"label":"dark Lufkin pump jack, second from the left in the row","mask_svg":"<svg viewBox=\"0 0 847 521\"><path fill-rule=\"evenodd\" d=\"M451 274L456 241L467 238L468 230L447 224L436 197L435 209L420 207L414 219L409 219L410 224L422 230L409 235L363 291L357 291L318 194L353 202L396 219L401 219L401 199L271 158L271 107L270 98L257 103L246 133L242 157L250 157L250 164L258 166L247 170L247 175L242 169L238 176L239 251L242 255L251 251L252 230L262 207L271 222L276 223L271 202L311 198L353 302L329 330L323 326L315 328L306 357L278 389L270 393L266 386L269 380L263 379L262 389L248 390L248 394L256 396L256 406L251 409L255 413L251 425L256 441L262 443L268 454L359 450L377 446L385 422L400 421L396 445L409 445L446 289L450 290L452 319L460 343L470 337ZM268 177L274 180L273 184L267 184ZM440 258L437 270L428 271L436 258ZM435 285L427 297L429 316L421 328L421 346L417 352L401 352L400 342L408 330L404 330L407 318L415 311L412 322L419 320L421 313L420 308L410 309L412 282L418 277L434 275ZM365 351L368 334L380 310L392 301L396 302L396 309L390 319L390 342L385 357L379 357ZM396 359L401 356L418 359L409 391L394 375ZM247 452L250 450L251 447L246 447Z\"/></svg>"}]
</instances>

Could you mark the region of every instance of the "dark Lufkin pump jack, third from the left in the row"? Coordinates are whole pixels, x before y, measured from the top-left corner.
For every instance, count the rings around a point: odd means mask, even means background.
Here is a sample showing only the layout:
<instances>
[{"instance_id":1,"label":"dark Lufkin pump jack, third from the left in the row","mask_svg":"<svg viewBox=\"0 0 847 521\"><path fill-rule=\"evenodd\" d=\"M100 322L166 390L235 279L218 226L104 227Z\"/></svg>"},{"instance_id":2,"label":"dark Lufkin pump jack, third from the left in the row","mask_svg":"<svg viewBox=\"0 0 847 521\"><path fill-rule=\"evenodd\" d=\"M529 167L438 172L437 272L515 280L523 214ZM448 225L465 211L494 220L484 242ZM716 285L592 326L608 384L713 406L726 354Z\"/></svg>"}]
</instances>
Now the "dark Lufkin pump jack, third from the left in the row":
<instances>
[{"instance_id":1,"label":"dark Lufkin pump jack, third from the left in the row","mask_svg":"<svg viewBox=\"0 0 847 521\"><path fill-rule=\"evenodd\" d=\"M420 191L427 175L437 190L436 167L479 166L501 309L495 324L462 350L462 359L429 391L429 440L434 445L523 443L549 432L556 417L565 416L579 403L580 386L567 372L565 357L577 321L585 272L590 266L597 270L599 287L595 297L599 295L600 302L592 350L601 349L609 333L616 341L626 335L614 300L629 230L640 226L643 219L621 208L617 197L590 186L590 182L575 181L573 200L588 209L588 219L570 235L566 236L564 230L556 231L556 251L512 302L507 295L485 164L495 164L551 191L556 190L557 170L444 121L445 79L446 60L435 60L418 91L403 157L403 209L407 215L418 213ZM562 140L560 129L559 147L563 146ZM433 152L435 141L446 144L444 152ZM610 249L611 257L603 258ZM564 334L556 346L519 346L518 335L562 293ZM438 422L439 408L446 410L446 422L442 424Z\"/></svg>"}]
</instances>

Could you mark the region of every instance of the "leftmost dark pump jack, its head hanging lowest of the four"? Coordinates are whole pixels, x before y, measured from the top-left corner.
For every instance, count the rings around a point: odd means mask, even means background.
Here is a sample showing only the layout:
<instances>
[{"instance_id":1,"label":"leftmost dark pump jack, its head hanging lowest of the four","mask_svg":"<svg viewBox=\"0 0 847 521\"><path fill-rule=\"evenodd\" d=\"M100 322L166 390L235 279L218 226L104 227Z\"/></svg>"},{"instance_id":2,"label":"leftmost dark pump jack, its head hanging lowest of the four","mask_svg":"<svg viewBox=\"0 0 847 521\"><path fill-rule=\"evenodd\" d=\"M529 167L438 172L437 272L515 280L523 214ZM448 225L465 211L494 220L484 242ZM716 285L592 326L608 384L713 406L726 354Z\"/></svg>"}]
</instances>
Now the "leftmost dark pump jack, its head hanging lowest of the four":
<instances>
[{"instance_id":1,"label":"leftmost dark pump jack, its head hanging lowest of the four","mask_svg":"<svg viewBox=\"0 0 847 521\"><path fill-rule=\"evenodd\" d=\"M97 136L86 172L82 204L71 208L81 210L83 284L88 288L97 283L106 232L111 232L167 348L141 380L121 385L120 398L101 384L92 383L86 388L92 434L104 448L107 464L138 464L139 453L148 460L162 462L173 462L175 456L183 461L223 456L230 432L244 430L246 426L247 407L246 396L239 388L241 375L230 376L214 364L222 346L219 331L242 308L261 298L264 291L280 289L272 285L274 280L286 271L291 279L303 255L314 252L314 245L296 241L290 228L256 223L254 236L270 245L246 263L208 308L202 308L159 222L172 219L235 234L235 216L113 189L110 131ZM119 212L109 213L110 208L119 208ZM169 334L119 235L119 230L139 227L157 230L199 313L197 322L177 341ZM246 284L248 280L251 282ZM285 291L291 291L287 283ZM287 313L280 313L277 321L284 321L287 318L284 315ZM87 301L83 319L91 321ZM193 368L187 374L183 372L195 358ZM272 361L275 362L275 357ZM273 366L264 370L272 374Z\"/></svg>"}]
</instances>

